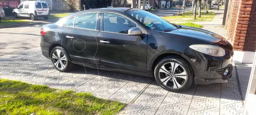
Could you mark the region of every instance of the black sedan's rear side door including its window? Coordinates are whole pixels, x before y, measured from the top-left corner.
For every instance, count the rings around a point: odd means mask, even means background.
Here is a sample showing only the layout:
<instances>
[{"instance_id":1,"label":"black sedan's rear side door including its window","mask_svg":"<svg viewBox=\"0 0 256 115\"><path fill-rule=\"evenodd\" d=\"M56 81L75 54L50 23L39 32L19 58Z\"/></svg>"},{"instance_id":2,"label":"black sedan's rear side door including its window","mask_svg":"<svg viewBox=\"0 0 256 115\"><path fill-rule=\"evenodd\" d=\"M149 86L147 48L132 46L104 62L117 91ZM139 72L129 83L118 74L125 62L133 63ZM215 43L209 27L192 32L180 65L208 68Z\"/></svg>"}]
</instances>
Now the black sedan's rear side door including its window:
<instances>
[{"instance_id":1,"label":"black sedan's rear side door including its window","mask_svg":"<svg viewBox=\"0 0 256 115\"><path fill-rule=\"evenodd\" d=\"M62 29L66 39L67 50L80 62L99 64L94 60L97 53L97 37L99 34L98 13L86 13L69 18Z\"/></svg>"}]
</instances>

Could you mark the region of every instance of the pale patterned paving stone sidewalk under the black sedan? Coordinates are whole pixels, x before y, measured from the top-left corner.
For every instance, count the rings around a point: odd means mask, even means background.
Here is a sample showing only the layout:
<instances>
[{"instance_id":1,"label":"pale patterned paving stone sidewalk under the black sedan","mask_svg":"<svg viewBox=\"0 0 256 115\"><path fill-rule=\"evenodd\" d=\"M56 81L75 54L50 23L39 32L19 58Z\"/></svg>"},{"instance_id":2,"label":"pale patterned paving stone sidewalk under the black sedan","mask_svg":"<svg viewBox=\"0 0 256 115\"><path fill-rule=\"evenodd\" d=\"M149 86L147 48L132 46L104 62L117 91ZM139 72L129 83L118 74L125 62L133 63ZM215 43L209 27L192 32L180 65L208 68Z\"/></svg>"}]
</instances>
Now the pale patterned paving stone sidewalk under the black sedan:
<instances>
[{"instance_id":1,"label":"pale patterned paving stone sidewalk under the black sedan","mask_svg":"<svg viewBox=\"0 0 256 115\"><path fill-rule=\"evenodd\" d=\"M186 92L173 93L149 77L78 65L70 72L58 72L39 47L0 56L0 78L90 92L127 103L119 114L242 114L251 67L236 65L227 84L192 85Z\"/></svg>"}]
</instances>

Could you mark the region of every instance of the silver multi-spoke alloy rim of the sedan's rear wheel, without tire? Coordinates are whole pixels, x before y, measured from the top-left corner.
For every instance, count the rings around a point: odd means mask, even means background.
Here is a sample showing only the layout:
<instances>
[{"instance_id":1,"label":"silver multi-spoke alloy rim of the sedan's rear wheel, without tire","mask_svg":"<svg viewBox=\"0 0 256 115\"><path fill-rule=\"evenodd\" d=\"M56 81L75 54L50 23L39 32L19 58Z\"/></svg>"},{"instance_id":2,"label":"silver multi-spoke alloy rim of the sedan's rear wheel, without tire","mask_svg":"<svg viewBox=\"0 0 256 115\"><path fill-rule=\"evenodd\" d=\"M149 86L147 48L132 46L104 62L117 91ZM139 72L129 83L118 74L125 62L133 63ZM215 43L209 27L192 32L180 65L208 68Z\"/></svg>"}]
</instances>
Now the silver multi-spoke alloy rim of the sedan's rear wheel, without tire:
<instances>
[{"instance_id":1,"label":"silver multi-spoke alloy rim of the sedan's rear wheel, without tire","mask_svg":"<svg viewBox=\"0 0 256 115\"><path fill-rule=\"evenodd\" d=\"M67 56L57 49L52 54L52 62L56 68L63 70L67 66Z\"/></svg>"}]
</instances>

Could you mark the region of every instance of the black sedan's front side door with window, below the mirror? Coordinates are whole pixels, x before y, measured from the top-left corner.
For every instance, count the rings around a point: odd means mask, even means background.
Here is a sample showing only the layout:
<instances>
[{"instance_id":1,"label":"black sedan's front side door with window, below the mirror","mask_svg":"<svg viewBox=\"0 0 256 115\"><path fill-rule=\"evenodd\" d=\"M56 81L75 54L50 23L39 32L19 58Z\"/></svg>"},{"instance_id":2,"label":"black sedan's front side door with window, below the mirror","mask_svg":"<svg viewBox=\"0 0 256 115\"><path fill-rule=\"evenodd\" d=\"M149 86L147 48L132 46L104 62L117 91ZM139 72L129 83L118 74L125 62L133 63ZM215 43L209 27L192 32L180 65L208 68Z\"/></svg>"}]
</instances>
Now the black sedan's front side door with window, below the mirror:
<instances>
[{"instance_id":1,"label":"black sedan's front side door with window, below the mirror","mask_svg":"<svg viewBox=\"0 0 256 115\"><path fill-rule=\"evenodd\" d=\"M146 71L147 37L129 36L128 30L138 27L125 15L103 12L96 57L102 65L133 71ZM146 30L142 30L147 34Z\"/></svg>"}]
</instances>

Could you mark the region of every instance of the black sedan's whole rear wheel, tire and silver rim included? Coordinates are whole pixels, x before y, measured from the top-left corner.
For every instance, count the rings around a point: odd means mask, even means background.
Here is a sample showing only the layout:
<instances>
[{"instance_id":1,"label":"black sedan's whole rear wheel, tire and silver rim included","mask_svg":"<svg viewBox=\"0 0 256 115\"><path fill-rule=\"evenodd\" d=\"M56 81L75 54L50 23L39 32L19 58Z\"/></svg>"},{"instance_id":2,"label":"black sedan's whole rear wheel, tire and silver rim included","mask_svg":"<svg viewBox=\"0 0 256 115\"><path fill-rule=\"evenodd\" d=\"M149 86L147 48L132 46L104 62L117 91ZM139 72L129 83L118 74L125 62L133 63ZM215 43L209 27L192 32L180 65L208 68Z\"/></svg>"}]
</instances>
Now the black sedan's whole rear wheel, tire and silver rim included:
<instances>
[{"instance_id":1,"label":"black sedan's whole rear wheel, tire and silver rim included","mask_svg":"<svg viewBox=\"0 0 256 115\"><path fill-rule=\"evenodd\" d=\"M70 71L73 67L69 54L63 47L54 47L50 53L50 59L54 68L60 72Z\"/></svg>"}]
</instances>

